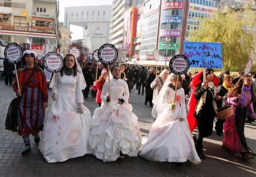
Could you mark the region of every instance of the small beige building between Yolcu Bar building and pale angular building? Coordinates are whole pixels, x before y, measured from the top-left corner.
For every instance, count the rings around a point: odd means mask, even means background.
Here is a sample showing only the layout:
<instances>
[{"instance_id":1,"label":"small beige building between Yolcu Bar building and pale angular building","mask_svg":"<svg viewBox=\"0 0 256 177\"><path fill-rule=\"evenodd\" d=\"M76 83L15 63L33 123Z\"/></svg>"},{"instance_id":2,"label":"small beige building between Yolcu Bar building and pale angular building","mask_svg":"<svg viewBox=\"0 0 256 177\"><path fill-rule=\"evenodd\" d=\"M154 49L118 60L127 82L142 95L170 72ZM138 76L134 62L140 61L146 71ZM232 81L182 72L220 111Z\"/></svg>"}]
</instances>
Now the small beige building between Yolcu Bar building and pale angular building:
<instances>
[{"instance_id":1,"label":"small beige building between Yolcu Bar building and pale angular building","mask_svg":"<svg viewBox=\"0 0 256 177\"><path fill-rule=\"evenodd\" d=\"M60 32L60 53L64 55L68 54L68 48L71 44L71 34L72 32L68 30L68 27L65 27L63 23L59 24L59 32Z\"/></svg>"}]
</instances>

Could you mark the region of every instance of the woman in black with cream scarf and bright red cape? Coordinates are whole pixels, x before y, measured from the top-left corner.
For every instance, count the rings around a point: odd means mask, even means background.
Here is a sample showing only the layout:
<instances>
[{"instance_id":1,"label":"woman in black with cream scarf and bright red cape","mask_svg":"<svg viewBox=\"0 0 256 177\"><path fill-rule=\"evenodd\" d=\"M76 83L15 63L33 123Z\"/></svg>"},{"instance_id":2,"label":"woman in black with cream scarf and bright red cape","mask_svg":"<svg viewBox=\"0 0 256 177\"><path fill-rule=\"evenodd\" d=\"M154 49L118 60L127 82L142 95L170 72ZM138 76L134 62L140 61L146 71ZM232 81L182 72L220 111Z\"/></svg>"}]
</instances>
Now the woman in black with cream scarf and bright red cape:
<instances>
[{"instance_id":1,"label":"woman in black with cream scarf and bright red cape","mask_svg":"<svg viewBox=\"0 0 256 177\"><path fill-rule=\"evenodd\" d=\"M192 132L198 127L198 133L194 141L196 151L200 158L205 159L203 153L203 138L212 134L213 119L215 117L213 99L217 95L219 80L212 69L205 71L206 81L203 82L203 71L192 76L190 86L193 88L188 102L188 125ZM219 100L217 97L216 100Z\"/></svg>"}]
</instances>

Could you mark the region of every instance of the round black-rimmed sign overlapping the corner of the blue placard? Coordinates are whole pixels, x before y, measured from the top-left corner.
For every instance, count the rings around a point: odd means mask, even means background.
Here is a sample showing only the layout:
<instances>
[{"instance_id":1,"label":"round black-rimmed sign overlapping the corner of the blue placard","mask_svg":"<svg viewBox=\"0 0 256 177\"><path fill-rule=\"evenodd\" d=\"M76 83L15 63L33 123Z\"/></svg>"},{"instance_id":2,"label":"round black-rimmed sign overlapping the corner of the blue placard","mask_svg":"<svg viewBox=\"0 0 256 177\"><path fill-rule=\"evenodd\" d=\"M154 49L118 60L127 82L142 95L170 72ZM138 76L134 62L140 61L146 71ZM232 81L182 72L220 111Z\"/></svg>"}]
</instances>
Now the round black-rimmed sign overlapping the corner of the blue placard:
<instances>
[{"instance_id":1,"label":"round black-rimmed sign overlapping the corner of the blue placard","mask_svg":"<svg viewBox=\"0 0 256 177\"><path fill-rule=\"evenodd\" d=\"M184 74L189 69L189 60L185 55L175 55L169 63L170 70L176 75Z\"/></svg>"}]
</instances>

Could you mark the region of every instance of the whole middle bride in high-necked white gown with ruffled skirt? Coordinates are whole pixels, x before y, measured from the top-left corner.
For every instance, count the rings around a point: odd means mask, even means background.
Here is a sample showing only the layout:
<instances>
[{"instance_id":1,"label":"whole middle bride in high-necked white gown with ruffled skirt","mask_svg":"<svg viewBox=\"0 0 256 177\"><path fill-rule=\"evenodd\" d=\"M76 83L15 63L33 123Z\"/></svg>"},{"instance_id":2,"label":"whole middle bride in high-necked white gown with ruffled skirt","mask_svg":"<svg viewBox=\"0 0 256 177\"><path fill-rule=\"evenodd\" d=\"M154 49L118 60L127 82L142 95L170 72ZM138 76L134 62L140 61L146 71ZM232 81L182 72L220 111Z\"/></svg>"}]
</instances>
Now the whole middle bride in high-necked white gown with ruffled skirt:
<instances>
[{"instance_id":1,"label":"whole middle bride in high-necked white gown with ruffled skirt","mask_svg":"<svg viewBox=\"0 0 256 177\"><path fill-rule=\"evenodd\" d=\"M110 71L110 91L107 80L101 93L103 104L92 116L92 129L87 148L90 148L88 153L103 162L123 158L123 154L137 156L141 146L138 118L132 113L132 105L128 103L128 85L120 79L119 65L113 65Z\"/></svg>"}]
</instances>

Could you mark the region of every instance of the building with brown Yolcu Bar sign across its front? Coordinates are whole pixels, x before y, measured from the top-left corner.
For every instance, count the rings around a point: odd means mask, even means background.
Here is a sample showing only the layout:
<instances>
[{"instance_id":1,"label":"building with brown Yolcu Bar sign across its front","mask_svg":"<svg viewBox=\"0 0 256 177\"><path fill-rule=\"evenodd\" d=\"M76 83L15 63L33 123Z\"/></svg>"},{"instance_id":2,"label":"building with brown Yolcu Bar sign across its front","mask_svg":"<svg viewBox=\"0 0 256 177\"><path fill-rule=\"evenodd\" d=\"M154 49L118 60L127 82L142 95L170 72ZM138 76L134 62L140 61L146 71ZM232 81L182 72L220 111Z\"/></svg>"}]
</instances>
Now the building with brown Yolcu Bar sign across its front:
<instances>
[{"instance_id":1,"label":"building with brown Yolcu Bar sign across its front","mask_svg":"<svg viewBox=\"0 0 256 177\"><path fill-rule=\"evenodd\" d=\"M56 0L0 0L0 37L7 43L26 42L43 54L43 43L56 43Z\"/></svg>"}]
</instances>

